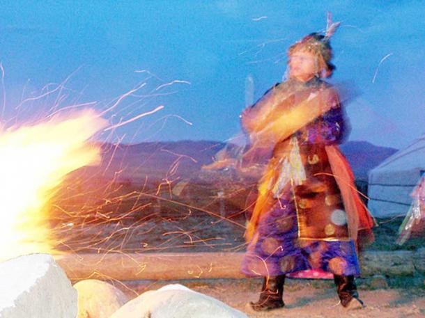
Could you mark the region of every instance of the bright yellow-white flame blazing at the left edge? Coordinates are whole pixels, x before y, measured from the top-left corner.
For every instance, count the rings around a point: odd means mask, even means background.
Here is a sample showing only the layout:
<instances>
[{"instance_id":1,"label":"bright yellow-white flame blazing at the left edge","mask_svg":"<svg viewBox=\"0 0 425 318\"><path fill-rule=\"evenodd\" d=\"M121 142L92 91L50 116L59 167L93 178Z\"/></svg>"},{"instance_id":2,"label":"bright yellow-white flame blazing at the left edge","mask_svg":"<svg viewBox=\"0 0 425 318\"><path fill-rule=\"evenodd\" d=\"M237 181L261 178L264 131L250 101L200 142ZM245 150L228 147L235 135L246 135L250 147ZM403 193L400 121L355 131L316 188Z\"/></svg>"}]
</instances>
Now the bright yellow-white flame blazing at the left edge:
<instances>
[{"instance_id":1,"label":"bright yellow-white flame blazing at the left edge","mask_svg":"<svg viewBox=\"0 0 425 318\"><path fill-rule=\"evenodd\" d=\"M105 125L88 110L0 130L0 260L54 252L47 203L67 173L99 163L88 138Z\"/></svg>"}]
</instances>

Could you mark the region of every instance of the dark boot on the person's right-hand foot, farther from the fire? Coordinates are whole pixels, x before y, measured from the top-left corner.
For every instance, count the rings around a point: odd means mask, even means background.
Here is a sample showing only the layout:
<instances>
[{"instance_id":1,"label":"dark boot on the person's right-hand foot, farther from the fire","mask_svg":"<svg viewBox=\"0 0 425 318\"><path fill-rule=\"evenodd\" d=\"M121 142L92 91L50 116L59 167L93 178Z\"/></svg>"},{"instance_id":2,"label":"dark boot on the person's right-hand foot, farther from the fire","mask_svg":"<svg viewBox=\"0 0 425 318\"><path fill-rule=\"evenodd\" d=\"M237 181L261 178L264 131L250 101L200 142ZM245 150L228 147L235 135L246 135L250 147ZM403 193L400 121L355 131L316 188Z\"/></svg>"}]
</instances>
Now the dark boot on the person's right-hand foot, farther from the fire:
<instances>
[{"instance_id":1,"label":"dark boot on the person's right-hand foot, farther from the fire","mask_svg":"<svg viewBox=\"0 0 425 318\"><path fill-rule=\"evenodd\" d=\"M337 286L337 293L341 305L346 309L364 308L363 301L359 298L357 286L354 282L354 276L339 276L334 275L334 282Z\"/></svg>"}]
</instances>

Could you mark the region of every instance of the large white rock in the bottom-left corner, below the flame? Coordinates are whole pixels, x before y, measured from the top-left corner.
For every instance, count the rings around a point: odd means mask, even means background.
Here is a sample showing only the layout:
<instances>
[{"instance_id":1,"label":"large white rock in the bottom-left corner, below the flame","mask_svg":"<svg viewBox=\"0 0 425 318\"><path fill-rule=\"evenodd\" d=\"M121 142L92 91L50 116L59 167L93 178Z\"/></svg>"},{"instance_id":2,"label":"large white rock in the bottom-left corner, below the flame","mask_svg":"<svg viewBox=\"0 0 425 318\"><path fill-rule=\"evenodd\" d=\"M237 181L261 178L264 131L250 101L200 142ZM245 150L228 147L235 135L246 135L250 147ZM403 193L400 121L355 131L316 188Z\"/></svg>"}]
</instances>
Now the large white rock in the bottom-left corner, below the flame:
<instances>
[{"instance_id":1,"label":"large white rock in the bottom-left corner, below the flame","mask_svg":"<svg viewBox=\"0 0 425 318\"><path fill-rule=\"evenodd\" d=\"M0 282L0 318L77 317L77 291L48 254L1 262Z\"/></svg>"}]
</instances>

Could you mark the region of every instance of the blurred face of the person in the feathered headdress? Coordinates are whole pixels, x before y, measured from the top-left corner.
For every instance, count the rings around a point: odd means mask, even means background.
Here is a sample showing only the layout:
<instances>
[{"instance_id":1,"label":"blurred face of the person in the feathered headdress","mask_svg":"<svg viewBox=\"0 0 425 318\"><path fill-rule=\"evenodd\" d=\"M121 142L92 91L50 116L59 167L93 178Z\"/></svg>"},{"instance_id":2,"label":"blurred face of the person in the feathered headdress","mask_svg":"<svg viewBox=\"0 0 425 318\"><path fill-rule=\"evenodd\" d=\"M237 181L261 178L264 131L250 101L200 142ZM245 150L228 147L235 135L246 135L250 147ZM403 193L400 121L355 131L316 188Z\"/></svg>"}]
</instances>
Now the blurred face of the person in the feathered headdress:
<instances>
[{"instance_id":1,"label":"blurred face of the person in the feathered headdress","mask_svg":"<svg viewBox=\"0 0 425 318\"><path fill-rule=\"evenodd\" d=\"M316 56L309 51L298 50L289 56L289 77L308 81L318 73Z\"/></svg>"}]
</instances>

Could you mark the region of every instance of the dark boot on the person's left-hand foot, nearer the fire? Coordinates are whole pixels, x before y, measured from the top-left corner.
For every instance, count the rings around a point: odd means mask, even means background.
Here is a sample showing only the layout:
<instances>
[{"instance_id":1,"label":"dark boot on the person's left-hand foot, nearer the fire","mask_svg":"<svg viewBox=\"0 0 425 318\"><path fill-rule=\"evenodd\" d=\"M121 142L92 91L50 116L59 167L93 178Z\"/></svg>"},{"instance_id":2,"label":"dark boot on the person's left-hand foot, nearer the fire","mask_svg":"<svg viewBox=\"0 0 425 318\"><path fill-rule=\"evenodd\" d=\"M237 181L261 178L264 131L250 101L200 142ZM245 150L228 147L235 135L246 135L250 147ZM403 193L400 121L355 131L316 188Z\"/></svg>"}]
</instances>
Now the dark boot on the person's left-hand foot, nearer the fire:
<instances>
[{"instance_id":1,"label":"dark boot on the person's left-hand foot, nearer the fire","mask_svg":"<svg viewBox=\"0 0 425 318\"><path fill-rule=\"evenodd\" d=\"M260 299L256 303L250 302L251 308L256 311L262 311L284 307L285 304L282 299L284 283L284 275L265 277Z\"/></svg>"}]
</instances>

